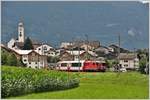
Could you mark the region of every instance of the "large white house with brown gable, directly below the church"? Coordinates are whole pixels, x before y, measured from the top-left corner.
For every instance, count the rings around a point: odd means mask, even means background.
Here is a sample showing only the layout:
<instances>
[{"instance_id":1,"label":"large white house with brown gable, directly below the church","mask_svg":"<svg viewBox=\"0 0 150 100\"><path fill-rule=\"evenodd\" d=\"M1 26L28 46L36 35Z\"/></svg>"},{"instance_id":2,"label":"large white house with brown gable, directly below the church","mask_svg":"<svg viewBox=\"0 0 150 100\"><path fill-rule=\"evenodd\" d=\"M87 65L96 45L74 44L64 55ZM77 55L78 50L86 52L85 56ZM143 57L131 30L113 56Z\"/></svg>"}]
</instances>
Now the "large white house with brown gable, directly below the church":
<instances>
[{"instance_id":1,"label":"large white house with brown gable, directly below the church","mask_svg":"<svg viewBox=\"0 0 150 100\"><path fill-rule=\"evenodd\" d=\"M47 67L47 56L41 55L34 50L15 50L21 55L22 62L28 68L45 68Z\"/></svg>"}]
</instances>

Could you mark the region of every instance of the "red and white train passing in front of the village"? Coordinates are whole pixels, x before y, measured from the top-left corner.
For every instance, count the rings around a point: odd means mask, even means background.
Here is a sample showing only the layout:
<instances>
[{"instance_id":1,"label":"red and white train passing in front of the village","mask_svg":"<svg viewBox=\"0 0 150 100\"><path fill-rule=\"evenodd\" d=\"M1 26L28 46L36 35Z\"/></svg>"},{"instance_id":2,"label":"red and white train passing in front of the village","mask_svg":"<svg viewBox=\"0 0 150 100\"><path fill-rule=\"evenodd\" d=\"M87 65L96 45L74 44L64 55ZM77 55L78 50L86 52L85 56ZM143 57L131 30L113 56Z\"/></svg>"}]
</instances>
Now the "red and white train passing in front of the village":
<instances>
[{"instance_id":1,"label":"red and white train passing in front of the village","mask_svg":"<svg viewBox=\"0 0 150 100\"><path fill-rule=\"evenodd\" d=\"M68 71L105 71L106 64L104 61L60 61L56 67L58 70Z\"/></svg>"}]
</instances>

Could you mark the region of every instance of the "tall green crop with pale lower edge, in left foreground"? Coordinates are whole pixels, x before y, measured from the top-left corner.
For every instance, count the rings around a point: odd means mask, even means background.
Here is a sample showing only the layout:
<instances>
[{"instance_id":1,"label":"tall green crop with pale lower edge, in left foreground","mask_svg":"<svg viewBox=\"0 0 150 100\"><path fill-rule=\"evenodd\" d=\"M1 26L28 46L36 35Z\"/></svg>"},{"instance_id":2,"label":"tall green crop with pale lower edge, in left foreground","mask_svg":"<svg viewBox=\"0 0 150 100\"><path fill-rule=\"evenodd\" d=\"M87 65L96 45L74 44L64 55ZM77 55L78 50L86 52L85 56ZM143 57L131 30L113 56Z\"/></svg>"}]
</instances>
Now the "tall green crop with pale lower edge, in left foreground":
<instances>
[{"instance_id":1,"label":"tall green crop with pale lower edge, in left foreground","mask_svg":"<svg viewBox=\"0 0 150 100\"><path fill-rule=\"evenodd\" d=\"M76 74L2 66L2 98L33 92L55 91L79 85Z\"/></svg>"}]
</instances>

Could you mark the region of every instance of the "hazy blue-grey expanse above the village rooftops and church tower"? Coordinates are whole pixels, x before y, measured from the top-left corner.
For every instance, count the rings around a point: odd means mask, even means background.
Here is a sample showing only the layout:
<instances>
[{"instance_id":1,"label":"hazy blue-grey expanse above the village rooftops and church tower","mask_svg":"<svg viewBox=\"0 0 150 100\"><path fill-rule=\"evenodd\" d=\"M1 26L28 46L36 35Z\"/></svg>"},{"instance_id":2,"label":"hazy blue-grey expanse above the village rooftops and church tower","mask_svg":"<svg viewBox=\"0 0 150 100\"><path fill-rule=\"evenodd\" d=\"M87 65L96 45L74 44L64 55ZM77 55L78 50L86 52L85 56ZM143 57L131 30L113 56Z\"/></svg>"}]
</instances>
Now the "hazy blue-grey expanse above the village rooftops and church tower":
<instances>
[{"instance_id":1,"label":"hazy blue-grey expanse above the village rooftops and church tower","mask_svg":"<svg viewBox=\"0 0 150 100\"><path fill-rule=\"evenodd\" d=\"M101 45L148 48L149 6L135 1L3 1L1 41L17 38L23 20L25 36L59 46L64 41L98 40Z\"/></svg>"}]
</instances>

